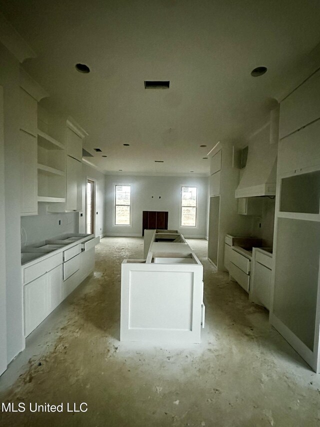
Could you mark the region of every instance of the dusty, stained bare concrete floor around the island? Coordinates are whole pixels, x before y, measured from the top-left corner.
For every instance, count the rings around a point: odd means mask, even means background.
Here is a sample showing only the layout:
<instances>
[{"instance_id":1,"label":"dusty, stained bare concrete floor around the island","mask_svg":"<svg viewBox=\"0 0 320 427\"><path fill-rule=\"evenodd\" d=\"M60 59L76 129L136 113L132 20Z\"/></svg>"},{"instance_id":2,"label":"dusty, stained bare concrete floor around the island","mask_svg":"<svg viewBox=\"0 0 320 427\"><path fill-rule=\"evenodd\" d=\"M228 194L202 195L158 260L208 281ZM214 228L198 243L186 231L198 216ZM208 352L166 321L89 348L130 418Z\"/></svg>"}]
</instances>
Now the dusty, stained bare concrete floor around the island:
<instances>
[{"instance_id":1,"label":"dusty, stained bare concrete floor around the island","mask_svg":"<svg viewBox=\"0 0 320 427\"><path fill-rule=\"evenodd\" d=\"M141 238L103 238L95 273L27 338L0 378L1 426L319 426L320 375L268 324L268 313L214 273L206 241L188 239L204 266L202 343L124 344L120 263L141 258ZM29 412L29 402L63 412ZM67 412L66 402L87 411ZM83 406L84 408L84 406Z\"/></svg>"}]
</instances>

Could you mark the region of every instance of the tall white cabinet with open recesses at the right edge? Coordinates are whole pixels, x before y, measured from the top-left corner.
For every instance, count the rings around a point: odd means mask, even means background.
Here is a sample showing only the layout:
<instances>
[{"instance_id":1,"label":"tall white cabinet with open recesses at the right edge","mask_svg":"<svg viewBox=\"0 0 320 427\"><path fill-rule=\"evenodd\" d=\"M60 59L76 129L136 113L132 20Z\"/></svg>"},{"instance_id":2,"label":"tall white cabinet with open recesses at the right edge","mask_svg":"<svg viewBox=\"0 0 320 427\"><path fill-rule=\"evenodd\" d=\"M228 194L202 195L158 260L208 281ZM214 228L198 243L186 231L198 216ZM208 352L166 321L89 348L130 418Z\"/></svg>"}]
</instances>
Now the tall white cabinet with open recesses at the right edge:
<instances>
[{"instance_id":1,"label":"tall white cabinet with open recesses at the right edge","mask_svg":"<svg viewBox=\"0 0 320 427\"><path fill-rule=\"evenodd\" d=\"M270 322L320 372L320 73L280 104Z\"/></svg>"}]
</instances>

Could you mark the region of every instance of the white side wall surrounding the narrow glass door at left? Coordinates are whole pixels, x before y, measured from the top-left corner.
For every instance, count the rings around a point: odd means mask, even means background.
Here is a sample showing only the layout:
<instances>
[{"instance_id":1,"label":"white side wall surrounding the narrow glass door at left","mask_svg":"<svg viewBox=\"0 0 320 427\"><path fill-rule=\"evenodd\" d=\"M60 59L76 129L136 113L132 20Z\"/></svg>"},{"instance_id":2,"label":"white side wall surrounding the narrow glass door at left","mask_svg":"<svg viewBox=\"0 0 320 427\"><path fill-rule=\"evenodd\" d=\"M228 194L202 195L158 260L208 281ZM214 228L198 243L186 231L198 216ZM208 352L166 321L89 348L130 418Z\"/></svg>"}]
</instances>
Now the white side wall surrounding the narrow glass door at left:
<instances>
[{"instance_id":1,"label":"white side wall surrounding the narrow glass door at left","mask_svg":"<svg viewBox=\"0 0 320 427\"><path fill-rule=\"evenodd\" d=\"M104 187L105 187L105 176L96 169L89 165L82 163L82 216L79 215L79 233L85 233L85 193L86 193L86 180L91 179L95 183L95 224L94 224L94 235L101 236L105 233L105 222L104 222Z\"/></svg>"}]
</instances>

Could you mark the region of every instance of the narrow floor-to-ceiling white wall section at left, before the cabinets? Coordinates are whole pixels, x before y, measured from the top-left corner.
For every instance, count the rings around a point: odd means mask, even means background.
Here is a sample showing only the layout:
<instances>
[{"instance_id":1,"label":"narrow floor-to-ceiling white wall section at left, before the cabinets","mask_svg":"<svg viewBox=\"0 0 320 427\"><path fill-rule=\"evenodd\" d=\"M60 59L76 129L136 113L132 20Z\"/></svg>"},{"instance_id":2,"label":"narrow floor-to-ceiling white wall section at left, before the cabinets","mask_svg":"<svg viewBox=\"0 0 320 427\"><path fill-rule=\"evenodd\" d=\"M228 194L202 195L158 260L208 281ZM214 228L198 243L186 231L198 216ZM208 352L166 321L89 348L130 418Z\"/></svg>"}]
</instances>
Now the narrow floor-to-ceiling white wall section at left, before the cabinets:
<instances>
[{"instance_id":1,"label":"narrow floor-to-ceiling white wall section at left, before the cabinets","mask_svg":"<svg viewBox=\"0 0 320 427\"><path fill-rule=\"evenodd\" d=\"M20 258L19 62L0 44L4 91L7 362L24 348Z\"/></svg>"}]
</instances>

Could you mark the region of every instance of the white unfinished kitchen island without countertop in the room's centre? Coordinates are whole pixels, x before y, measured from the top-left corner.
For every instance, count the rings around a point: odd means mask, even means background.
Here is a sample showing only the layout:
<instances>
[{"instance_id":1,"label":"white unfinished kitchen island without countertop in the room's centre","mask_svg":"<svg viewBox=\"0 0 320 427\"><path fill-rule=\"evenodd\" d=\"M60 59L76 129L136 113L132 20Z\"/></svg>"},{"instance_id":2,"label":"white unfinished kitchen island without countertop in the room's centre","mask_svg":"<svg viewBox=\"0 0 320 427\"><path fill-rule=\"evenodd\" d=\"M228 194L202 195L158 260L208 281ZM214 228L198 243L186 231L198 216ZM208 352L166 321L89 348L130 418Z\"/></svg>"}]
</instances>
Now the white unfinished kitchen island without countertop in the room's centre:
<instances>
[{"instance_id":1,"label":"white unfinished kitchen island without countertop in the room's centre","mask_svg":"<svg viewBox=\"0 0 320 427\"><path fill-rule=\"evenodd\" d=\"M120 340L200 342L202 264L176 230L145 230L144 243L146 259L121 265Z\"/></svg>"}]
</instances>

